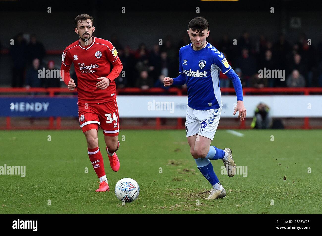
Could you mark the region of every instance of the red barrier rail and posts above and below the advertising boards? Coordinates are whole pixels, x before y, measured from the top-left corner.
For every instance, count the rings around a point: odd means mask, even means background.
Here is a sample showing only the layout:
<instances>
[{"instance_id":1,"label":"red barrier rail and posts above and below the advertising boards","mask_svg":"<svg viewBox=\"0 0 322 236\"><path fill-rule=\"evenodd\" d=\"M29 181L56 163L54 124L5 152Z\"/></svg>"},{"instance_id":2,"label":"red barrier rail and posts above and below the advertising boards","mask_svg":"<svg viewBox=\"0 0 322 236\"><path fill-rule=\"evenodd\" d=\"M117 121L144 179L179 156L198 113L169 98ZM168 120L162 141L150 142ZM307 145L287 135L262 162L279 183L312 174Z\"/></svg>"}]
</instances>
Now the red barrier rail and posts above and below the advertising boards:
<instances>
[{"instance_id":1,"label":"red barrier rail and posts above and below the advertising boards","mask_svg":"<svg viewBox=\"0 0 322 236\"><path fill-rule=\"evenodd\" d=\"M6 93L8 96L16 96L17 94L13 93L31 93L31 92L37 92L37 93L45 93L49 97L54 97L59 93L61 96L62 93L75 93L77 92L77 89L75 91L70 91L68 88L6 88L6 87L0 87L0 94ZM150 88L148 90L142 90L140 88L123 88L123 89L117 89L116 94L173 94L173 95L178 95L181 96L183 94L186 94L187 90L186 89L179 89L179 88L170 88L168 90L162 89L162 88ZM232 94L235 94L235 90L233 88L221 88L221 92L230 92ZM243 88L243 95L245 94L285 94L285 93L299 93L299 94L304 94L304 95L309 95L312 93L322 93L322 88L321 87L300 87L300 88ZM66 95L67 95L66 94ZM1 96L1 95L0 95ZM12 129L11 127L11 118L7 117L6 118L6 128L5 129ZM25 127L24 127L25 128ZM33 127L34 128L34 127ZM56 118L56 126L54 126L54 118L50 117L49 118L49 127L48 129L61 129L61 117ZM134 128L134 127L123 127L123 128ZM147 127L147 126L140 126L139 128L141 129L149 129L149 128L155 128L155 129L162 129L161 127L161 118L156 118L156 126L153 127ZM177 125L176 126L167 126L165 127L167 129L182 129L184 126L182 125L182 118L177 118ZM221 127L221 128L229 128L229 127ZM240 129L245 129L248 128L245 126L245 120L240 123ZM309 125L309 118L305 117L304 118L304 125L303 127L300 127L303 129L310 129ZM19 129L19 127L14 128L14 129Z\"/></svg>"}]
</instances>

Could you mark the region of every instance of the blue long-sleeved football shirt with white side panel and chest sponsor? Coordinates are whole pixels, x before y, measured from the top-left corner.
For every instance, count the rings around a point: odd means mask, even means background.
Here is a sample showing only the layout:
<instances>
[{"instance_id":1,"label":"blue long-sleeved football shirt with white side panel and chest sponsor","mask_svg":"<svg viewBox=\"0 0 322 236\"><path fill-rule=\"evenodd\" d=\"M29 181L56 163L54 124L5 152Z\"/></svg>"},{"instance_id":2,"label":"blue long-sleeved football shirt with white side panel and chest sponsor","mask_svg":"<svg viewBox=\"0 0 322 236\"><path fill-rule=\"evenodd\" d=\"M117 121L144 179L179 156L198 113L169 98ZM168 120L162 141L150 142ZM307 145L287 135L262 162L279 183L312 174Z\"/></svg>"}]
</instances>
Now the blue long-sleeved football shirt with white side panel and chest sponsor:
<instances>
[{"instance_id":1,"label":"blue long-sleeved football shirt with white side panel and chest sponsor","mask_svg":"<svg viewBox=\"0 0 322 236\"><path fill-rule=\"evenodd\" d=\"M187 84L188 106L197 110L218 109L223 106L219 72L227 74L233 82L237 100L242 99L242 84L223 53L210 43L195 51L192 43L179 51L179 73L174 85ZM179 78L180 77L180 78Z\"/></svg>"}]
</instances>

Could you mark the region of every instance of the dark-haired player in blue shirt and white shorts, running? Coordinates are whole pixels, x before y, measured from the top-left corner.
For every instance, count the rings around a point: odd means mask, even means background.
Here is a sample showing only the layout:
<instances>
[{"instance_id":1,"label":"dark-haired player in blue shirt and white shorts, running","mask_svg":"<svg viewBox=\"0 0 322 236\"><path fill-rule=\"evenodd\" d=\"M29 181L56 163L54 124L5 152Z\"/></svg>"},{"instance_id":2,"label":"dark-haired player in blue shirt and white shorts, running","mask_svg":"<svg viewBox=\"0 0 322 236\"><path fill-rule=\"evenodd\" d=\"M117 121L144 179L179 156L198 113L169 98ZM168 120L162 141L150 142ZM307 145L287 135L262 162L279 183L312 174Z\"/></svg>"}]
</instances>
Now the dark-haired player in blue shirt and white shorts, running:
<instances>
[{"instance_id":1,"label":"dark-haired player in blue shirt and white shorts, running","mask_svg":"<svg viewBox=\"0 0 322 236\"><path fill-rule=\"evenodd\" d=\"M238 118L244 120L246 109L243 103L242 83L238 75L228 64L223 53L207 42L208 22L203 17L196 17L189 22L188 35L191 44L179 50L179 73L176 78L164 78L164 86L187 85L188 106L185 129L190 153L197 167L213 186L209 197L216 199L226 196L210 160L222 159L229 177L236 172L230 148L219 149L210 146L217 130L222 110L219 72L226 74L232 81L236 95Z\"/></svg>"}]
</instances>

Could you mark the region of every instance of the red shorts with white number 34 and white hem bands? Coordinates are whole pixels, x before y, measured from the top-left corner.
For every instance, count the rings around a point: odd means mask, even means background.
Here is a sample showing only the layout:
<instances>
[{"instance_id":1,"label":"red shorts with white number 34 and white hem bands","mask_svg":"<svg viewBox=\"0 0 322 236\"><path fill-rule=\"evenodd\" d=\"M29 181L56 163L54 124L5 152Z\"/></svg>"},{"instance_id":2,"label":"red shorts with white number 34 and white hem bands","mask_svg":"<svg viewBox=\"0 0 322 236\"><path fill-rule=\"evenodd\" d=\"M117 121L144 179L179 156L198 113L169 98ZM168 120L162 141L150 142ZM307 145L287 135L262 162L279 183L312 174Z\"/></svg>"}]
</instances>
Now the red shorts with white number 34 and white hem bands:
<instances>
[{"instance_id":1,"label":"red shorts with white number 34 and white hem bands","mask_svg":"<svg viewBox=\"0 0 322 236\"><path fill-rule=\"evenodd\" d=\"M116 100L103 103L78 102L80 126L84 132L102 128L104 135L117 136L119 132L118 105Z\"/></svg>"}]
</instances>

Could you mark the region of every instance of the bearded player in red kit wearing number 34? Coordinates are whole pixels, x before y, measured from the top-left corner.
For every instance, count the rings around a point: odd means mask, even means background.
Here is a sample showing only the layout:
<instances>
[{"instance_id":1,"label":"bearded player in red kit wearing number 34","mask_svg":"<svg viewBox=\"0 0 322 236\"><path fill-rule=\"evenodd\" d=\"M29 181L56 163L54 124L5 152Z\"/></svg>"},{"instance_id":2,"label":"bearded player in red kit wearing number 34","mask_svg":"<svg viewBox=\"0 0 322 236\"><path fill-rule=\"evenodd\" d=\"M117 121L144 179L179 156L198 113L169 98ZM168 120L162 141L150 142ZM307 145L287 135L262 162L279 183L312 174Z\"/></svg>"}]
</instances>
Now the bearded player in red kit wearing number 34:
<instances>
[{"instance_id":1,"label":"bearded player in red kit wearing number 34","mask_svg":"<svg viewBox=\"0 0 322 236\"><path fill-rule=\"evenodd\" d=\"M74 64L78 78L78 114L81 129L87 140L88 155L99 177L97 192L109 191L102 154L99 150L98 129L104 132L109 163L114 171L120 164L116 151L119 147L118 106L114 79L122 71L122 63L111 42L92 37L93 18L87 14L75 18L75 32L79 40L69 45L62 54L62 76L69 90L76 84L70 76ZM111 67L112 70L111 70Z\"/></svg>"}]
</instances>

